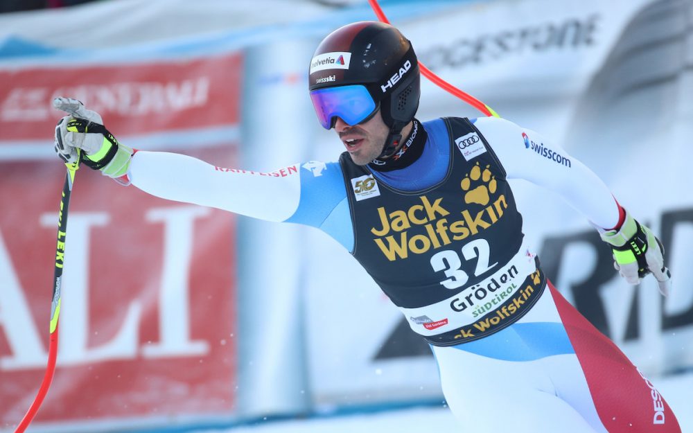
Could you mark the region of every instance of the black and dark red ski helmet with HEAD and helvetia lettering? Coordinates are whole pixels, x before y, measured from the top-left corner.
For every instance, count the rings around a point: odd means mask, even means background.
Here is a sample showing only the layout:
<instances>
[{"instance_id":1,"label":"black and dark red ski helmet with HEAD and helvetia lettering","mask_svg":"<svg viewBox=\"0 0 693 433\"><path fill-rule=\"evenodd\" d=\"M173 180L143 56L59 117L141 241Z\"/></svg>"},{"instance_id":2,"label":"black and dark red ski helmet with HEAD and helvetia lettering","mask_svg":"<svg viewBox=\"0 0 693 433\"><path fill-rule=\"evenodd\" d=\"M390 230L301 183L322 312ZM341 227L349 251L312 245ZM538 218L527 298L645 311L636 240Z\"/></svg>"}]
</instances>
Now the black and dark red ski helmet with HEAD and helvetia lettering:
<instances>
[{"instance_id":1,"label":"black and dark red ski helmet with HEAD and helvetia lettering","mask_svg":"<svg viewBox=\"0 0 693 433\"><path fill-rule=\"evenodd\" d=\"M315 50L308 77L312 98L319 89L365 87L375 108L356 123L368 120L380 109L390 129L381 157L394 153L402 128L412 121L419 108L421 79L416 53L411 42L389 24L359 21L337 28ZM316 98L313 105L323 126L334 127L339 114L325 112Z\"/></svg>"}]
</instances>

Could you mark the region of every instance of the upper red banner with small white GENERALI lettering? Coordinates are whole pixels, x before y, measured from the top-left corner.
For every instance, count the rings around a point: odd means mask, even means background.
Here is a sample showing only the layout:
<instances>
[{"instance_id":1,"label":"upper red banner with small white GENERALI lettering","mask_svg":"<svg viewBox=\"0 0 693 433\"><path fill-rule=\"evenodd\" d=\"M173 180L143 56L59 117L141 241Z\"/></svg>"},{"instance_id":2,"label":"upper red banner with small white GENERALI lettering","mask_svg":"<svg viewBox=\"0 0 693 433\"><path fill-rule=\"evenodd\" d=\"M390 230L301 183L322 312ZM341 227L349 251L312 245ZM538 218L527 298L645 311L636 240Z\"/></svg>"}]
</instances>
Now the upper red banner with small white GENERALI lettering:
<instances>
[{"instance_id":1,"label":"upper red banner with small white GENERALI lettering","mask_svg":"<svg viewBox=\"0 0 693 433\"><path fill-rule=\"evenodd\" d=\"M64 114L55 96L81 100L114 134L238 123L241 58L0 71L0 141L47 139Z\"/></svg>"}]
</instances>

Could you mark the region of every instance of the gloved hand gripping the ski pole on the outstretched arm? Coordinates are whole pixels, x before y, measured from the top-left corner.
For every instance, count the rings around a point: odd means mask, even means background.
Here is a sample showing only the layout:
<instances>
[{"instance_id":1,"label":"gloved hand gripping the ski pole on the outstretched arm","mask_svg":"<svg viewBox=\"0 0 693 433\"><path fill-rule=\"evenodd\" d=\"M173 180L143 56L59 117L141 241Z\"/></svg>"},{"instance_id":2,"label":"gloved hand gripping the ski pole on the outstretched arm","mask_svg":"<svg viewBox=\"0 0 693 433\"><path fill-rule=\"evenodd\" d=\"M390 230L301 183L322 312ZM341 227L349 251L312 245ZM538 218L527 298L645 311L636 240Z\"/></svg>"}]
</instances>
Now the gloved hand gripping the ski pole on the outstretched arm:
<instances>
[{"instance_id":1,"label":"gloved hand gripping the ski pole on the outstretched arm","mask_svg":"<svg viewBox=\"0 0 693 433\"><path fill-rule=\"evenodd\" d=\"M106 130L98 113L73 98L55 98L53 107L69 114L55 126L55 152L63 161L71 164L80 159L89 168L116 180L128 173L132 148L119 143Z\"/></svg>"}]
</instances>

